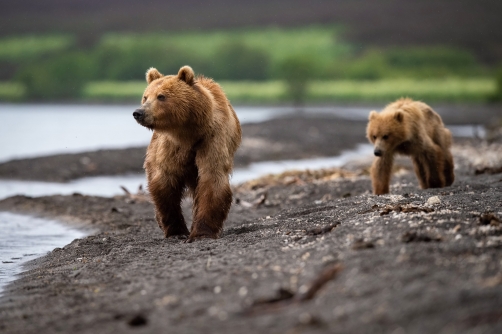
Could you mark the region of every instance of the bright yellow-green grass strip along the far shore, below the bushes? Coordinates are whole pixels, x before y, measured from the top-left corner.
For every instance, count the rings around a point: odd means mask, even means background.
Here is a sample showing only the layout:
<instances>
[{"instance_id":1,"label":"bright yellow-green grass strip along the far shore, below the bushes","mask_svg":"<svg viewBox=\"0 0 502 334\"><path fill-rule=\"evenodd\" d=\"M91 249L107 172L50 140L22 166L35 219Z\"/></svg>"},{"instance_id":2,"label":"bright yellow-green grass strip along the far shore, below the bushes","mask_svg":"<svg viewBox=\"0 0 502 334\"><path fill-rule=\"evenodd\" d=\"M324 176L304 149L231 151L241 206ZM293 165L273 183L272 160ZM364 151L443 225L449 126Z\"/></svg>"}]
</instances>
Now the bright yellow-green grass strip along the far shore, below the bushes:
<instances>
[{"instance_id":1,"label":"bright yellow-green grass strip along the far shore, below the bushes","mask_svg":"<svg viewBox=\"0 0 502 334\"><path fill-rule=\"evenodd\" d=\"M232 103L289 102L282 81L222 81L220 85ZM1 86L0 86L1 87ZM143 81L92 82L85 86L85 100L139 101L146 88ZM308 102L392 101L410 97L424 101L484 102L496 91L493 79L385 79L377 81L312 81Z\"/></svg>"}]
</instances>

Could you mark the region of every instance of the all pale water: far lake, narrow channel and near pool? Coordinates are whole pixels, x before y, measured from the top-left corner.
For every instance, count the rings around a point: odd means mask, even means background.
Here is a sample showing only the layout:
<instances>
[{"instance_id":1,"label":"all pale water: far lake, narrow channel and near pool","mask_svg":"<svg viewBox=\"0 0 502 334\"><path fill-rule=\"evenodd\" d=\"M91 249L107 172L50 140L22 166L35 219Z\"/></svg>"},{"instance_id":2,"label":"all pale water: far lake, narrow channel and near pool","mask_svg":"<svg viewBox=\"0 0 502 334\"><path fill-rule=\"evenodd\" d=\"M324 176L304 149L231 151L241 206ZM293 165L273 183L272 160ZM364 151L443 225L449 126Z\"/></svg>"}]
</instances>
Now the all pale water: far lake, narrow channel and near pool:
<instances>
[{"instance_id":1,"label":"all pale water: far lake, narrow channel and near pool","mask_svg":"<svg viewBox=\"0 0 502 334\"><path fill-rule=\"evenodd\" d=\"M146 146L151 132L139 126L132 117L135 105L30 105L0 104L0 162L59 153L78 153L105 148ZM325 107L307 108L303 112L327 113L344 119L366 120L369 110L378 108ZM283 107L236 107L242 124L265 121L293 112ZM483 135L483 128L450 127L454 135ZM339 167L347 161L371 156L368 144L342 152L340 156L308 160L286 160L253 163L236 169L234 184L264 174L290 169ZM120 186L136 191L145 185L143 174L82 178L69 183L0 180L0 199L23 194L44 196L75 192L114 196L122 194ZM22 270L22 264L62 247L85 233L54 220L0 212L0 293Z\"/></svg>"}]
</instances>

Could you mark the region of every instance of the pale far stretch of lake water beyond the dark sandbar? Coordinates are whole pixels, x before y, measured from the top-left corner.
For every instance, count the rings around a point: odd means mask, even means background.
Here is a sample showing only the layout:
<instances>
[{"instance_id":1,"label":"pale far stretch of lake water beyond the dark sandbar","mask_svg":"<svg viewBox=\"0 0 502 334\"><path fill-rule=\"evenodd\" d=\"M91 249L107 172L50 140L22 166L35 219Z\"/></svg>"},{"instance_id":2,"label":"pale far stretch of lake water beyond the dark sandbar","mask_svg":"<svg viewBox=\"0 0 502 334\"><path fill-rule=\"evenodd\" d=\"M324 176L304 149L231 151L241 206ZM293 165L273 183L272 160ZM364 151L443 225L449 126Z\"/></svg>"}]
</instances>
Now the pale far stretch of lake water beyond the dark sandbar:
<instances>
[{"instance_id":1,"label":"pale far stretch of lake water beyond the dark sandbar","mask_svg":"<svg viewBox=\"0 0 502 334\"><path fill-rule=\"evenodd\" d=\"M0 104L0 162L56 153L146 146L151 132L138 125L136 105ZM306 108L305 113L333 114L366 120L378 108ZM284 107L236 107L242 124L261 122L293 112ZM457 136L475 135L473 126L450 127ZM483 135L483 129L479 129Z\"/></svg>"}]
</instances>

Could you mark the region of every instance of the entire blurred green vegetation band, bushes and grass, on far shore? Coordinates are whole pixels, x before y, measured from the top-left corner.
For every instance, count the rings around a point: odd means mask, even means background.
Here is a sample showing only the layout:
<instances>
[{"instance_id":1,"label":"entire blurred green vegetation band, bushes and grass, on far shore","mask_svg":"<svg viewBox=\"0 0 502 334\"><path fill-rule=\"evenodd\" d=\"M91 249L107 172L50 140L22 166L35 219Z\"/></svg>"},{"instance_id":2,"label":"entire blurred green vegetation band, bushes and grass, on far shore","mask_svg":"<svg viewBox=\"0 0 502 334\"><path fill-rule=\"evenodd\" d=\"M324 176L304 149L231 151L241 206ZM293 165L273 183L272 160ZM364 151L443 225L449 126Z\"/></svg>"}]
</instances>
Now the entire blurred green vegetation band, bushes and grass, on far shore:
<instances>
[{"instance_id":1,"label":"entire blurred green vegetation band, bushes and grass, on far shore","mask_svg":"<svg viewBox=\"0 0 502 334\"><path fill-rule=\"evenodd\" d=\"M87 48L73 36L0 39L0 100L135 101L145 71L191 65L232 101L295 104L388 100L486 101L493 71L444 46L356 49L334 26L109 33ZM499 81L502 75L499 75ZM502 84L499 83L499 87Z\"/></svg>"}]
</instances>

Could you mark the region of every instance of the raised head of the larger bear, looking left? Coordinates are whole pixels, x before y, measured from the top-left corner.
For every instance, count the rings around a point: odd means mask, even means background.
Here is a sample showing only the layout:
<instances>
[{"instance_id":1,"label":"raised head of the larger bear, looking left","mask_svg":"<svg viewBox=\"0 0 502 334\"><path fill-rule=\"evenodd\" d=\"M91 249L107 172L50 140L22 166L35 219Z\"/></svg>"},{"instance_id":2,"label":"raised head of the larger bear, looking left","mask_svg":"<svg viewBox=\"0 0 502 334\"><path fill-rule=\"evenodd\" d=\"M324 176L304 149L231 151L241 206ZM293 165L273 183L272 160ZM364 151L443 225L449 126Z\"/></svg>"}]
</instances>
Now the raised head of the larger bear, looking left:
<instances>
[{"instance_id":1,"label":"raised head of the larger bear, looking left","mask_svg":"<svg viewBox=\"0 0 502 334\"><path fill-rule=\"evenodd\" d=\"M187 129L203 121L208 96L201 93L190 66L180 68L177 75L162 75L157 69L146 72L148 86L141 108L133 113L136 121L156 131Z\"/></svg>"}]
</instances>

